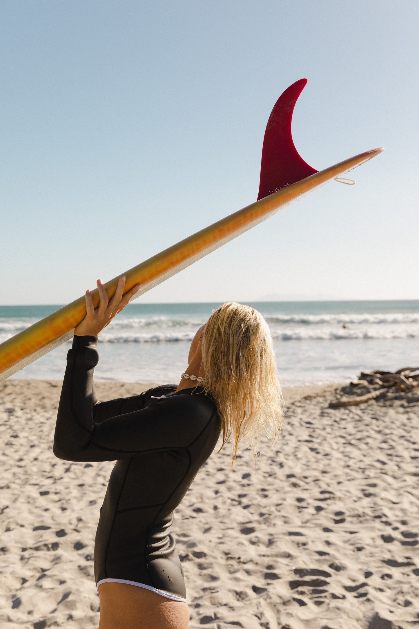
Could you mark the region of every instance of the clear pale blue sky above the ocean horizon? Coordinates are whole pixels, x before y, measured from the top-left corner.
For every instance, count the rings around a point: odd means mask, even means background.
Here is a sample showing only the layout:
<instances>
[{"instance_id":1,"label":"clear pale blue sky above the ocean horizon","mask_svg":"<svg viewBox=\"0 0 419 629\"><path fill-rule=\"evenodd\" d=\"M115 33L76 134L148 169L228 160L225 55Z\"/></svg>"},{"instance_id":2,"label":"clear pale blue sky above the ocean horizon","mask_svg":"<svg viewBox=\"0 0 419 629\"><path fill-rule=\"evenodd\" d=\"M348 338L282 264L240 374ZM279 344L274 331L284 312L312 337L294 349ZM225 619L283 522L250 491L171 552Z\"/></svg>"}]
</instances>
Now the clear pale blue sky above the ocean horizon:
<instances>
[{"instance_id":1,"label":"clear pale blue sky above the ocean horizon","mask_svg":"<svg viewBox=\"0 0 419 629\"><path fill-rule=\"evenodd\" d=\"M67 303L256 199L264 128L386 151L141 298L419 297L417 0L3 0L0 303Z\"/></svg>"}]
</instances>

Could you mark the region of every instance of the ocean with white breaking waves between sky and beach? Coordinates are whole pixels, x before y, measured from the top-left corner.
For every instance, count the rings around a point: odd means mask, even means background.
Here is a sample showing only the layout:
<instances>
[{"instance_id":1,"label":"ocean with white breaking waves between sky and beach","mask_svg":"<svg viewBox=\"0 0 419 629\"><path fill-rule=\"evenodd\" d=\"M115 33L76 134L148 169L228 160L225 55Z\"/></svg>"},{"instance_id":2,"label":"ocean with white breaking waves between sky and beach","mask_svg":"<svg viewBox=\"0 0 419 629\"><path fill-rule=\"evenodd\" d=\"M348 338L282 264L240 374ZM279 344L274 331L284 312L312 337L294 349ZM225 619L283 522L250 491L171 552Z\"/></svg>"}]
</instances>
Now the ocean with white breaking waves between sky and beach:
<instances>
[{"instance_id":1,"label":"ocean with white breaking waves between sky and beach","mask_svg":"<svg viewBox=\"0 0 419 629\"><path fill-rule=\"evenodd\" d=\"M347 382L419 364L419 300L249 303L268 322L284 386ZM218 303L129 304L99 337L95 379L178 382L189 343ZM0 343L60 306L0 306ZM62 379L70 342L14 378Z\"/></svg>"}]
</instances>

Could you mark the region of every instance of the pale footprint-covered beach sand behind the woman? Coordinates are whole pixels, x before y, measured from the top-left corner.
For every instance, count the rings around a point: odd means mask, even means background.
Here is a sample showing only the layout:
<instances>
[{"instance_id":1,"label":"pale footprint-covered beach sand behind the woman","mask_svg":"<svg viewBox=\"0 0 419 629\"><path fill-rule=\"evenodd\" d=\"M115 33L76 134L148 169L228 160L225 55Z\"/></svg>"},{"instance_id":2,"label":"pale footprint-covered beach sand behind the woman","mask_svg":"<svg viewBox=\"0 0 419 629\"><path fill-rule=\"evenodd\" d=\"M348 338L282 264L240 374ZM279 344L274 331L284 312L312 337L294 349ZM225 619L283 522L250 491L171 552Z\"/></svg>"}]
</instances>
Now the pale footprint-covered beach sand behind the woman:
<instances>
[{"instance_id":1,"label":"pale footprint-covered beach sand behind the woman","mask_svg":"<svg viewBox=\"0 0 419 629\"><path fill-rule=\"evenodd\" d=\"M1 629L99 621L94 535L112 463L53 456L60 384L0 384ZM143 389L97 384L101 399ZM345 390L285 389L280 440L256 472L247 455L232 472L228 449L200 470L172 531L190 628L419 624L419 398L328 408Z\"/></svg>"}]
</instances>

